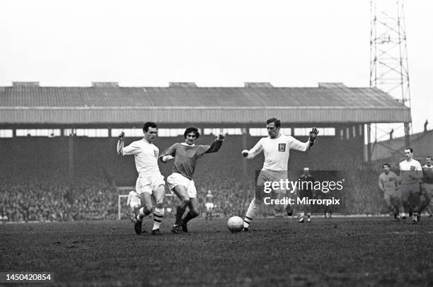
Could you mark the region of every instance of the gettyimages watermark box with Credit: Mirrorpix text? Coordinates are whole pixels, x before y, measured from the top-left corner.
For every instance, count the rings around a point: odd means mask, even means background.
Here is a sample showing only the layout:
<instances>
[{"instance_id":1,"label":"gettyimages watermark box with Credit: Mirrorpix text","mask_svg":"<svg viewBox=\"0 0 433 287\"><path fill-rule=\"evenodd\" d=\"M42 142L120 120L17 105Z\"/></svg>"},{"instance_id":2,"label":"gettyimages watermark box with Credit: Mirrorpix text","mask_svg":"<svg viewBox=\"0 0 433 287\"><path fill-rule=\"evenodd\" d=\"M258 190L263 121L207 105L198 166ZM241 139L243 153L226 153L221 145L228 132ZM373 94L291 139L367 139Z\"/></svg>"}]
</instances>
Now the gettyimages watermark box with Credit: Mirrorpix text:
<instances>
[{"instance_id":1,"label":"gettyimages watermark box with Credit: Mirrorpix text","mask_svg":"<svg viewBox=\"0 0 433 287\"><path fill-rule=\"evenodd\" d=\"M308 212L340 212L345 191L345 172L340 170L256 171L256 185L267 206L293 206Z\"/></svg>"}]
</instances>

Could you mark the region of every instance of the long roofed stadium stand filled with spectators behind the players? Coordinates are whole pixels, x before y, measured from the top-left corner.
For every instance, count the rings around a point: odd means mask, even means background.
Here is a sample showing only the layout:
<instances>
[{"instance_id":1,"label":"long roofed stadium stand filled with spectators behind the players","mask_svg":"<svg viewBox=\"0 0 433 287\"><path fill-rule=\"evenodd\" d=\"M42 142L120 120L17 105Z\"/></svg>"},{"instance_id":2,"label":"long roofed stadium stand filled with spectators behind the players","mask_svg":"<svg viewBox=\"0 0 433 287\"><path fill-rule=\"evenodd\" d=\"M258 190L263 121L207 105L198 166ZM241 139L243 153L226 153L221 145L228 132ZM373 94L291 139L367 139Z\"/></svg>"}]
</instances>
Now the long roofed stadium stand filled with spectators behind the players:
<instances>
[{"instance_id":1,"label":"long roofed stadium stand filled with spectators behind the players","mask_svg":"<svg viewBox=\"0 0 433 287\"><path fill-rule=\"evenodd\" d=\"M372 168L363 161L364 124L410 120L410 110L381 90L342 84L275 88L270 83L246 83L237 88L200 88L171 83L165 88L125 88L117 83L93 83L91 87L13 83L0 89L1 221L117 218L117 186L133 186L137 172L131 157L117 155L117 138L111 129L139 129L146 120L143 115L166 129L264 127L271 115L282 119L283 127L330 127L335 134L320 134L310 152L291 152L288 170L308 166L312 173L347 172L350 183L342 194L345 204L340 213L381 210L376 184L380 167ZM88 128L106 129L108 134L69 134ZM59 134L20 136L18 129L59 129ZM139 139L126 136L125 144ZM263 157L245 165L240 152L258 139L260 136L229 134L219 153L200 160L196 186L201 199L212 190L218 215L242 215L248 207L255 170L260 170ZM202 135L198 142L213 140L214 135ZM162 152L181 141L183 136L161 136L155 144ZM170 164L161 164L163 175L170 170ZM174 205L175 199L167 199L167 207ZM124 218L127 213L125 210ZM262 208L260 213L272 215L273 211Z\"/></svg>"}]
</instances>

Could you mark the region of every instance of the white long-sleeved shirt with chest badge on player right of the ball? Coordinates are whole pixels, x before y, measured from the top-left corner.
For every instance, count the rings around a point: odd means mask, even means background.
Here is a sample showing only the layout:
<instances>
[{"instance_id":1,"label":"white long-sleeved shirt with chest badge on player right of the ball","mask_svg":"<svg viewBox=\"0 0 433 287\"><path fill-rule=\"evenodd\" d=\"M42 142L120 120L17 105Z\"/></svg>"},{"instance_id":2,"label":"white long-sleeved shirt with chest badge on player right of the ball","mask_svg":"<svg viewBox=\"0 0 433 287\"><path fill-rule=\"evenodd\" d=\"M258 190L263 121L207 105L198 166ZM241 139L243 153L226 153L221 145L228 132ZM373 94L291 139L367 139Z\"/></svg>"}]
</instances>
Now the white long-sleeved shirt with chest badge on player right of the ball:
<instances>
[{"instance_id":1,"label":"white long-sleeved shirt with chest badge on player right of the ball","mask_svg":"<svg viewBox=\"0 0 433 287\"><path fill-rule=\"evenodd\" d=\"M289 161L289 151L306 151L310 146L309 142L303 143L293 136L280 134L277 138L271 139L270 136L262 138L253 148L248 151L247 158L254 158L259 153L265 155L265 162L262 170L287 170Z\"/></svg>"}]
</instances>

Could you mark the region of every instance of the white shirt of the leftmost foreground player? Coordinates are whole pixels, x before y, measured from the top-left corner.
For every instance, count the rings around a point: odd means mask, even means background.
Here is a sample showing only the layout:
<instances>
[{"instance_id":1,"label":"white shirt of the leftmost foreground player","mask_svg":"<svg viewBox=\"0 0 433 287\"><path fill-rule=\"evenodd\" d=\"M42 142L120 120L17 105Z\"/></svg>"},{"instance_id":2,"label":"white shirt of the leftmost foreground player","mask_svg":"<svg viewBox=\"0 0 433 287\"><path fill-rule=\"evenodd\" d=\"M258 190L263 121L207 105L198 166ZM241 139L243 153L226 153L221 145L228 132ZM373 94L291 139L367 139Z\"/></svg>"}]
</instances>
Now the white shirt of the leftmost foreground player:
<instances>
[{"instance_id":1,"label":"white shirt of the leftmost foreground player","mask_svg":"<svg viewBox=\"0 0 433 287\"><path fill-rule=\"evenodd\" d=\"M141 139L133 141L129 146L125 146L122 156L134 155L135 168L139 175L152 175L159 173L158 156L159 149L154 145Z\"/></svg>"}]
</instances>

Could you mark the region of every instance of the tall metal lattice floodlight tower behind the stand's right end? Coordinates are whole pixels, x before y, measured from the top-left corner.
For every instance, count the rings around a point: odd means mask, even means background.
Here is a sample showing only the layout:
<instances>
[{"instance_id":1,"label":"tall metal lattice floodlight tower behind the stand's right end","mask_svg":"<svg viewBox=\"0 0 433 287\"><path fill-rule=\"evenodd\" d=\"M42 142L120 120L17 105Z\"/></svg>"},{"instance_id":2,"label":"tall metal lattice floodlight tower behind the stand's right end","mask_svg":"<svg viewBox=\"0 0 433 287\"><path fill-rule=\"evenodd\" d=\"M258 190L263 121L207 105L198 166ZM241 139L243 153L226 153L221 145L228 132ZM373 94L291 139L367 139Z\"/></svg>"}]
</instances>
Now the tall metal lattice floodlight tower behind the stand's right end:
<instances>
[{"instance_id":1,"label":"tall metal lattice floodlight tower behind the stand's right end","mask_svg":"<svg viewBox=\"0 0 433 287\"><path fill-rule=\"evenodd\" d=\"M403 0L371 0L370 87L380 88L410 107ZM404 127L409 146L410 122Z\"/></svg>"}]
</instances>

